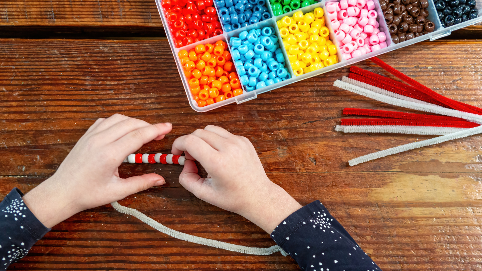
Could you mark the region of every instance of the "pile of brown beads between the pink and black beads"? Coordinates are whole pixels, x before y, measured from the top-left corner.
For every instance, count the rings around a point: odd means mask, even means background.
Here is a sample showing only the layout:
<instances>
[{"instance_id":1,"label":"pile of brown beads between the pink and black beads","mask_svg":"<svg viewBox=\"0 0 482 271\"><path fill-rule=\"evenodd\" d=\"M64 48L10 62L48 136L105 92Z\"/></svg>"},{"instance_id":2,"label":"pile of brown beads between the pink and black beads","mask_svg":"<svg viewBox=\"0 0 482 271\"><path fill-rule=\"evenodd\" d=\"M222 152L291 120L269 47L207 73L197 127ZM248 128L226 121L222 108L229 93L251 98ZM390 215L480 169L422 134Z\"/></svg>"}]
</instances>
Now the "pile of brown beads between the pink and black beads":
<instances>
[{"instance_id":1,"label":"pile of brown beads between the pink and black beads","mask_svg":"<svg viewBox=\"0 0 482 271\"><path fill-rule=\"evenodd\" d=\"M380 8L395 44L435 30L427 19L428 0L380 0Z\"/></svg>"}]
</instances>

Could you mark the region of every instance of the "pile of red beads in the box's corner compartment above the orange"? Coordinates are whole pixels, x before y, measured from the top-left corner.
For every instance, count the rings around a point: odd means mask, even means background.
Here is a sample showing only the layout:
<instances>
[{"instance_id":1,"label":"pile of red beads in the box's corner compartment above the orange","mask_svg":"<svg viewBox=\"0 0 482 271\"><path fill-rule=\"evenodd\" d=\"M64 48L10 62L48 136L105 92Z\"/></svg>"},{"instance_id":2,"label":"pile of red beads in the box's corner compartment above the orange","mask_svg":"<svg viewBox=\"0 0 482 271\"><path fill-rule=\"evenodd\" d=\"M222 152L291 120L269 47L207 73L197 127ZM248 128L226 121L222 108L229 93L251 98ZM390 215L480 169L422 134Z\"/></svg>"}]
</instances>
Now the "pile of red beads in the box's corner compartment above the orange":
<instances>
[{"instance_id":1,"label":"pile of red beads in the box's corner compartment above the orange","mask_svg":"<svg viewBox=\"0 0 482 271\"><path fill-rule=\"evenodd\" d=\"M213 0L161 0L176 48L223 33Z\"/></svg>"}]
</instances>

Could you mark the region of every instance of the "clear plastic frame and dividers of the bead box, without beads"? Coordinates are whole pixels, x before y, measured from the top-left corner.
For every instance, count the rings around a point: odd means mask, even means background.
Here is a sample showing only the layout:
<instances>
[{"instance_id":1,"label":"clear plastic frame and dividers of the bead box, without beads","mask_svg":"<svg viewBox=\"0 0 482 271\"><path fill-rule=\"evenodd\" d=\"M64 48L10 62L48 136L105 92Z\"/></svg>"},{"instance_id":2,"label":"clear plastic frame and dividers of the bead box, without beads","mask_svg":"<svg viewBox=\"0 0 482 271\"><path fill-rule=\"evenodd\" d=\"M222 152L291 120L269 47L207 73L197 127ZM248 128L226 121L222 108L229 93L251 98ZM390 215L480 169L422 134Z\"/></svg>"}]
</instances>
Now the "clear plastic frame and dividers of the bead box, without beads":
<instances>
[{"instance_id":1,"label":"clear plastic frame and dividers of the bead box, without beads","mask_svg":"<svg viewBox=\"0 0 482 271\"><path fill-rule=\"evenodd\" d=\"M249 25L249 26L246 26L246 27L241 27L239 29L236 29L236 30L233 30L233 31L230 31L228 33L224 32L223 34L219 35L219 36L215 36L215 37L212 37L212 38L209 38L209 39L206 39L206 40L203 40L203 41L198 41L198 42L195 42L195 43L192 43L192 44L189 44L187 46L184 46L184 47L181 47L181 48L175 48L174 46L174 43L173 43L173 39L170 35L171 31L169 29L169 26L167 24L167 20L164 16L164 12L163 12L163 9L161 7L161 0L156 0L156 4L157 4L157 7L158 7L158 10L159 10L159 13L161 14L161 20L162 20L162 23L164 24L164 27L166 28L166 33L168 33L167 36L167 39L169 41L169 44L171 46L171 49L174 53L174 60L175 60L175 63L176 63L176 66L177 66L177 69L179 71L179 74L180 74L180 77L181 77L181 81L184 85L184 89L186 91L186 95L187 95L187 98L189 100L189 105L191 106L191 108L193 108L195 111L197 112L206 112L206 111L209 111L209 110L213 110L215 108L219 108L219 107L222 107L222 106L225 106L225 105L228 105L228 104L231 104L231 103L234 103L236 102L237 104L241 104L243 102L246 102L246 101L249 101L249 100L252 100L252 99L255 99L257 98L257 95L259 94L262 94L262 93L265 93L267 91L271 91L271 90L274 90L274 89L277 89L277 88L280 88L280 87L283 87L285 85L289 85L291 83L295 83L297 81L301 81L301 80L305 80L307 78L311 78L311 77L314 77L314 76L317 76L317 75L320 75L322 73L325 73L325 72L329 72L329 71L332 71L334 69L337 69L337 68L341 68L341 67L345 67L345 66L348 66L348 65L352 65L353 63L356 63L356 62L359 62L359 61L362 61L362 60L365 60L365 59L368 59L370 57L374 57L374 56L377 56L377 55L380 55L380 54L385 54L387 52L390 52L390 51L393 51L393 50L396 50L396 49L399 49L399 48L402 48L402 47L405 47L405 46L408 46L408 45L412 45L416 42L419 42L419 41L425 41L425 40L430 40L430 41L433 41L433 40L436 40L436 39L440 39L440 38L443 38L445 36L448 36L452 33L452 31L454 30L457 30L457 29L460 29L460 28L463 28L463 27L468 27L470 25L473 25L473 24L476 24L476 23L479 23L479 22L482 22L482 0L476 0L477 4L476 4L476 7L479 9L479 17L478 18L475 18L475 19L472 19L472 20L468 20L466 22L463 22L463 23L460 23L460 24L457 24L457 25L453 25L453 26L450 26L450 27L442 27L442 24L440 23L440 20L437 16L437 13L436 13L436 9L435 9L435 4L433 2L433 0L428 0L429 2L429 7L428 7L428 12L429 12L429 15L428 15L428 19L431 20L432 22L435 23L435 30L429 34L426 34L426 35L423 35L423 36L419 36L419 37L416 37L412 40L409 40L409 41L403 41L403 42L400 42L400 43L397 43L397 44L394 44L393 42L391 42L391 39L387 39L390 40L390 44L388 44L387 42L387 47L383 48L383 49L380 49L380 50L377 50L375 52L370 52L368 54L364 54L362 56L359 56L359 57L355 57L355 58L351 58L351 59L348 59L348 60L344 60L341 58L341 54L338 55L340 62L334 64L334 65L331 65L331 66L328 66L328 67L325 67L325 68L321 68L321 69L318 69L318 70L315 70L315 71L312 71L312 72L308 72L308 73L305 73L305 74L302 74L300 76L293 76L293 70L291 68L291 65L289 64L286 64L286 68L287 70L290 72L290 74L292 75L292 78L288 79L288 80L285 80L285 81L281 81L281 82L278 82L276 84L272 84L270 86L266 86L264 88L260 88L260 89L256 89L256 90L253 90L253 91L250 91L250 92L246 92L244 90L244 86L242 86L243 88L243 94L241 95L238 95L238 96L235 96L234 98L230 98L230 99L227 99L227 100L224 100L222 102L218 102L218 103L214 103L212 105L208 105L208 106L205 106L205 107L198 107L197 103L195 102L195 100L193 100L191 98L191 93L190 93L190 90L189 90L189 85L187 84L187 80L186 80L186 77L184 76L184 71L183 71L183 68L180 64L180 61L177 57L177 53L180 51L180 50L185 50L185 49L191 49L193 47L195 47L197 44L205 44L205 43L214 43L215 41L218 41L218 40L223 40L223 41L226 41L228 42L229 41L229 38L230 37L233 37L233 36L236 36L238 35L241 31L243 30L250 30L250 29L254 29L254 28L262 28L261 26L264 26L267 24L271 25L272 27L275 28L275 32L276 32L276 35L278 36L278 38L280 39L280 42L281 42L281 35L280 35L280 32L279 32L279 29L276 25L276 21L281 19L283 16L291 16L293 13L297 12L297 11L303 11L303 13L305 12L309 12L309 11L312 11L314 10L316 7L321 7L323 8L323 11L325 12L326 14L326 8L325 8L325 3L327 1L333 1L333 0L322 0L321 2L315 2L314 4L312 5L309 5L307 7L303 7L303 8L300 8L300 9L297 9L295 11L292 11L290 13L285 13L285 14L281 14L277 17L273 17L273 11L271 10L271 6L269 5L269 1L267 1L267 5L268 5L268 11L271 13L271 18L267 19L267 20L264 20L264 21L261 21L261 22L258 22L258 23L255 23L255 24L252 24L252 25ZM379 12L379 16L380 18L382 18L383 16L383 13L381 13L381 10L380 10L380 4L378 2L378 0L374 0L375 1L375 8L377 9L377 12ZM217 10L217 7L216 5L214 4L214 7L216 8L216 13L217 13L217 16L219 18L219 12ZM381 13L381 14L380 14ZM435 18L433 16L436 16ZM378 18L377 17L377 18ZM219 18L219 22L221 22L221 18ZM386 27L386 23L383 22L383 24L380 23L380 21L378 22L380 24L380 30L382 30L382 26L385 26ZM329 23L329 20L327 20L326 22L326 26L328 27L328 29L330 29L330 39L333 40L333 35L334 35L334 32L332 31L333 29L331 28L331 25ZM248 31L249 31L248 30ZM388 31L388 29L386 29ZM384 30L385 31L385 30ZM385 33L385 34L388 34ZM390 37L390 35L387 35L387 37ZM336 40L336 39L335 39ZM229 44L229 43L228 43ZM339 46L337 44L337 42L334 44L337 45L337 50L338 52L339 51ZM280 44L281 45L281 44ZM287 54L286 54L286 50L284 49L284 46L280 46L281 47L281 51L283 52L284 56L285 56L285 59L288 59L287 58ZM229 52L231 52L231 48L229 47L228 45L228 50ZM238 73L238 70L236 68L236 73ZM238 73L239 75L239 73Z\"/></svg>"}]
</instances>

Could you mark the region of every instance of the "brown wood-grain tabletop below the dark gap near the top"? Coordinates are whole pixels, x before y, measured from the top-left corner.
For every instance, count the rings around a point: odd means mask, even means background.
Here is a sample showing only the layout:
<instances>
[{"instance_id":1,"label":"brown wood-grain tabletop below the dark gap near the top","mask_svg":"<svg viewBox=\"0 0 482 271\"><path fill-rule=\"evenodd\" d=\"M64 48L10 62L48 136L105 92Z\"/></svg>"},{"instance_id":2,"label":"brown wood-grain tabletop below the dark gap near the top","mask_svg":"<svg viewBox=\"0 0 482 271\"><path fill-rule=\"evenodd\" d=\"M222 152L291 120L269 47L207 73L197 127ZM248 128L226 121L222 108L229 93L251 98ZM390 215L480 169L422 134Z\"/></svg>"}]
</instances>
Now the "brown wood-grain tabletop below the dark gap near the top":
<instances>
[{"instance_id":1,"label":"brown wood-grain tabletop below the dark gap near the top","mask_svg":"<svg viewBox=\"0 0 482 271\"><path fill-rule=\"evenodd\" d=\"M422 42L380 58L442 95L482 106L482 41ZM357 66L388 75L370 61ZM51 176L97 118L173 123L142 152L168 152L176 137L215 124L249 138L269 178L297 201L321 200L383 270L482 270L481 136L349 167L352 158L433 136L335 132L346 107L404 110L335 88L343 75L348 67L196 113L167 41L0 40L0 198ZM275 244L243 217L195 198L179 185L180 171L122 165L121 176L156 172L167 184L120 203L174 230ZM110 205L55 226L10 269L299 270L279 253L250 256L170 238Z\"/></svg>"}]
</instances>

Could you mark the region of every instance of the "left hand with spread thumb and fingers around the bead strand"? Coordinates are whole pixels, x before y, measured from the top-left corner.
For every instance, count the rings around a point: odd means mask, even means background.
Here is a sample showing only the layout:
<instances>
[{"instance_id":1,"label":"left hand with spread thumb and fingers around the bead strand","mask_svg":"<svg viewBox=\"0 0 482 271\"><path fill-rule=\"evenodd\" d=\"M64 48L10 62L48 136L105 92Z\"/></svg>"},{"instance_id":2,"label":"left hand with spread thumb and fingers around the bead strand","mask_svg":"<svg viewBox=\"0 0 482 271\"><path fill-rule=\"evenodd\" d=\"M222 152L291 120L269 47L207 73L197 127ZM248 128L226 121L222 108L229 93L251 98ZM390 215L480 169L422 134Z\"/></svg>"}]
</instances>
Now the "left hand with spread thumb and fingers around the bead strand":
<instances>
[{"instance_id":1,"label":"left hand with spread thumb and fingers around the bead strand","mask_svg":"<svg viewBox=\"0 0 482 271\"><path fill-rule=\"evenodd\" d=\"M154 173L122 179L118 167L127 155L153 139L161 140L171 130L171 123L149 124L120 114L98 119L54 176L23 199L40 222L51 228L80 211L163 185L164 178Z\"/></svg>"}]
</instances>

